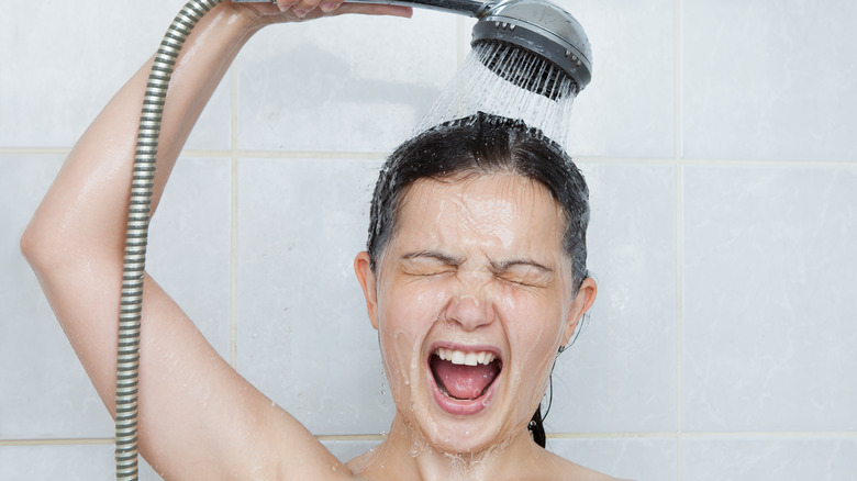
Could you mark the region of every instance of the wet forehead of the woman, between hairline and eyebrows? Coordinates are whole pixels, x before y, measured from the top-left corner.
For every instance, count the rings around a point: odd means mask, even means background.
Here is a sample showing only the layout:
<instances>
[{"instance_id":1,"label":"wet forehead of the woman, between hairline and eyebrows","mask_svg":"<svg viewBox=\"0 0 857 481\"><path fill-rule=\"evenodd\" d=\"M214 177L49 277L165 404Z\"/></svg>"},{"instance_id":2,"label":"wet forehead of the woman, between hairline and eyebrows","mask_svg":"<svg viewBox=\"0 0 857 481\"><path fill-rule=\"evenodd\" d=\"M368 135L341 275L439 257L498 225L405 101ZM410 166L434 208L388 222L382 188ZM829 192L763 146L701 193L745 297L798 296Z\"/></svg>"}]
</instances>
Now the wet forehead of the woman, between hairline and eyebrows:
<instances>
[{"instance_id":1,"label":"wet forehead of the woman, between hairline and eyebrows","mask_svg":"<svg viewBox=\"0 0 857 481\"><path fill-rule=\"evenodd\" d=\"M561 251L564 231L561 208L544 186L514 174L491 174L414 182L397 213L393 243L552 254Z\"/></svg>"}]
</instances>

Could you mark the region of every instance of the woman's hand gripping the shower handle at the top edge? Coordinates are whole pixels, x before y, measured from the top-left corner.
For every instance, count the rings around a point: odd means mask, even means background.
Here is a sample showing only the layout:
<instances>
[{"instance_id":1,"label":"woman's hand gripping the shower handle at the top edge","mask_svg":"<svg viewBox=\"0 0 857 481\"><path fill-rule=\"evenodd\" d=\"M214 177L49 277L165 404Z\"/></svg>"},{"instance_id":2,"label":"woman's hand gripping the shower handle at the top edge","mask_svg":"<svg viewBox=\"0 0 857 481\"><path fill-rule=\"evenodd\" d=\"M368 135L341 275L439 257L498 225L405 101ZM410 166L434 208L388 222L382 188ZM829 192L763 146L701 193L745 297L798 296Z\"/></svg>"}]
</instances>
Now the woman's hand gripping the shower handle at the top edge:
<instances>
[{"instance_id":1,"label":"woman's hand gripping the shower handle at the top edge","mask_svg":"<svg viewBox=\"0 0 857 481\"><path fill-rule=\"evenodd\" d=\"M254 15L260 25L272 23L299 22L320 16L340 15L343 13L361 13L367 15L392 15L410 18L410 7L389 5L380 3L347 3L343 0L277 0L269 2L232 3L232 7Z\"/></svg>"}]
</instances>

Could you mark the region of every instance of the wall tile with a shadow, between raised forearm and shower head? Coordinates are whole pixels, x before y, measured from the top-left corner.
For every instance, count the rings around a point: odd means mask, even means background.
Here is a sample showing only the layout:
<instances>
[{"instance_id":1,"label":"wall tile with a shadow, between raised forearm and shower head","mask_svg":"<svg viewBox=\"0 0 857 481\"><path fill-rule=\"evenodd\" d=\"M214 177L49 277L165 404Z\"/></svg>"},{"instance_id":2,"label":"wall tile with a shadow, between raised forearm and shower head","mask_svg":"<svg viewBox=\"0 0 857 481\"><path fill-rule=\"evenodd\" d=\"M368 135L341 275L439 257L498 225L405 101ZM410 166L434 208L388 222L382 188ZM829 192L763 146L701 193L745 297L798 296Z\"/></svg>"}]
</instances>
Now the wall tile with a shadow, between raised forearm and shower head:
<instances>
[{"instance_id":1,"label":"wall tile with a shadow, between raised forearm and shower head","mask_svg":"<svg viewBox=\"0 0 857 481\"><path fill-rule=\"evenodd\" d=\"M258 33L240 58L238 146L387 152L457 67L455 15L343 15Z\"/></svg>"}]
</instances>

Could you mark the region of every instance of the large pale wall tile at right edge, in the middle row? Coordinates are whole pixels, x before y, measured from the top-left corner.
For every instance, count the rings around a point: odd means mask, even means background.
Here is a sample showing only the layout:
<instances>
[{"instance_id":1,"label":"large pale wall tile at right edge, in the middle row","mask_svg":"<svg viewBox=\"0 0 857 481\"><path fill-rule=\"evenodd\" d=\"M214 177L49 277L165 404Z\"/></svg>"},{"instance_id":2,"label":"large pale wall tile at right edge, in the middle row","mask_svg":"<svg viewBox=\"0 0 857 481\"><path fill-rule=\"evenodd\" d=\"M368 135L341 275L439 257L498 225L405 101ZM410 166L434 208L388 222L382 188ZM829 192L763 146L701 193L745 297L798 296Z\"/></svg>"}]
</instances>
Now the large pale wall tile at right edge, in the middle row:
<instances>
[{"instance_id":1,"label":"large pale wall tile at right edge, in the middle row","mask_svg":"<svg viewBox=\"0 0 857 481\"><path fill-rule=\"evenodd\" d=\"M854 430L857 170L685 170L685 428Z\"/></svg>"}]
</instances>

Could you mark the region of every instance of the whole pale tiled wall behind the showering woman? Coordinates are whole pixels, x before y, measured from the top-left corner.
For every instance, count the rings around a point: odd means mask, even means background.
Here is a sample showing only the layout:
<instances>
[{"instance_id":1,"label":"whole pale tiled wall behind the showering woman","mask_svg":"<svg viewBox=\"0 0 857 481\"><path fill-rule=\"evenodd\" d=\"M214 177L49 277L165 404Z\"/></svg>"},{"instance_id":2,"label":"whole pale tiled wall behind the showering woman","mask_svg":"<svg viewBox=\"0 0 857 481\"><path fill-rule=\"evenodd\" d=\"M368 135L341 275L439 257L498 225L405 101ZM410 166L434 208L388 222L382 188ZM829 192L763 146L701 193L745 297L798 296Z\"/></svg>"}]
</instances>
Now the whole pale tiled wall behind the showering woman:
<instances>
[{"instance_id":1,"label":"whole pale tiled wall behind the showering woman","mask_svg":"<svg viewBox=\"0 0 857 481\"><path fill-rule=\"evenodd\" d=\"M569 150L600 295L555 370L550 448L637 480L856 480L857 3L560 3L594 51ZM112 476L112 422L18 238L180 4L3 5L2 480ZM372 179L471 23L420 11L261 32L153 225L152 273L343 458L393 411L350 272Z\"/></svg>"}]
</instances>

